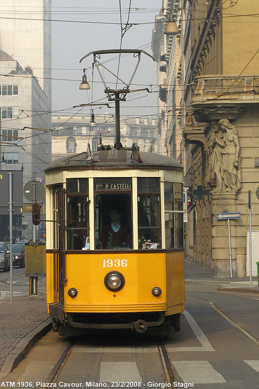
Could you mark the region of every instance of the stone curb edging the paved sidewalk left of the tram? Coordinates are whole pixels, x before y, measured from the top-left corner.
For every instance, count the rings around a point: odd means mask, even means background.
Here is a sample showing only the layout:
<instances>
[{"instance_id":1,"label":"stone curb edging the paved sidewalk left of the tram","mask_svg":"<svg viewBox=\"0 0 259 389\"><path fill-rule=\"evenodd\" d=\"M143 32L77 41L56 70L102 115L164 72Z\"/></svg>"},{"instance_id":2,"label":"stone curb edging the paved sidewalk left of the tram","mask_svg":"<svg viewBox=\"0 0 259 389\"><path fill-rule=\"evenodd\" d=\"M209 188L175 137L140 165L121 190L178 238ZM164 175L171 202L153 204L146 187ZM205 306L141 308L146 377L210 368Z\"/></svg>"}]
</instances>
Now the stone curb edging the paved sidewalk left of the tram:
<instances>
[{"instance_id":1,"label":"stone curb edging the paved sidewalk left of the tram","mask_svg":"<svg viewBox=\"0 0 259 389\"><path fill-rule=\"evenodd\" d=\"M46 335L51 328L52 321L48 318L43 323L39 324L33 331L29 332L29 334L25 335L5 358L0 373L10 373L13 371L35 343L42 336Z\"/></svg>"}]
</instances>

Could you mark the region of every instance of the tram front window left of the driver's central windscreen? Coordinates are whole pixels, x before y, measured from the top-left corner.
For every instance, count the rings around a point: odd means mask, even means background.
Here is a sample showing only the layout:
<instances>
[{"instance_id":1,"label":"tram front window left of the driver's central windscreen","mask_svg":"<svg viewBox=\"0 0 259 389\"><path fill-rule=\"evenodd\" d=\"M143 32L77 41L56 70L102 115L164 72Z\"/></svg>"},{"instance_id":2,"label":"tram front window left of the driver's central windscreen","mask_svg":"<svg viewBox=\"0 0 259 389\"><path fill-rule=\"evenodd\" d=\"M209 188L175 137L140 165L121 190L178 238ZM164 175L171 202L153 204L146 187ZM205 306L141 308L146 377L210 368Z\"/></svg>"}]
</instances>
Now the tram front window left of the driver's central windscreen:
<instances>
[{"instance_id":1,"label":"tram front window left of the driver's central windscreen","mask_svg":"<svg viewBox=\"0 0 259 389\"><path fill-rule=\"evenodd\" d=\"M88 179L67 179L67 249L89 248Z\"/></svg>"}]
</instances>

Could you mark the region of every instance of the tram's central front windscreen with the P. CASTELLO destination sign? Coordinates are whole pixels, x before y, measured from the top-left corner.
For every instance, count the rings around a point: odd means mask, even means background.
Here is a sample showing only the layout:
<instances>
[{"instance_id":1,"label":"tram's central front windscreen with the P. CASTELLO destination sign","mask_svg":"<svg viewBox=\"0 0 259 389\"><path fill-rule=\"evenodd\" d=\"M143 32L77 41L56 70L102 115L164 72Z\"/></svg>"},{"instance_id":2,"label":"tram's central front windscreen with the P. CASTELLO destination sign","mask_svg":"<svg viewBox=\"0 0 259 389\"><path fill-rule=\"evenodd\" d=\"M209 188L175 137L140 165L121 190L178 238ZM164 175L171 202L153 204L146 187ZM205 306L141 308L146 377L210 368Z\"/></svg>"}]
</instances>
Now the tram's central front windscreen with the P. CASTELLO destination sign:
<instances>
[{"instance_id":1,"label":"tram's central front windscreen with the P. CASTELLO destination sign","mask_svg":"<svg viewBox=\"0 0 259 389\"><path fill-rule=\"evenodd\" d=\"M104 209L106 207L106 209ZM120 230L125 242L121 246L112 247L113 240L121 240L121 236L108 242L107 231L110 230L110 211L117 210L120 217ZM133 193L132 177L97 177L94 178L94 235L95 249L133 249ZM124 221L124 223L123 223ZM126 221L126 223L125 223ZM123 230L122 230L123 229ZM115 231L114 231L115 232ZM117 231L119 232L119 231ZM107 239L107 242L106 242ZM107 247L106 247L107 246Z\"/></svg>"}]
</instances>

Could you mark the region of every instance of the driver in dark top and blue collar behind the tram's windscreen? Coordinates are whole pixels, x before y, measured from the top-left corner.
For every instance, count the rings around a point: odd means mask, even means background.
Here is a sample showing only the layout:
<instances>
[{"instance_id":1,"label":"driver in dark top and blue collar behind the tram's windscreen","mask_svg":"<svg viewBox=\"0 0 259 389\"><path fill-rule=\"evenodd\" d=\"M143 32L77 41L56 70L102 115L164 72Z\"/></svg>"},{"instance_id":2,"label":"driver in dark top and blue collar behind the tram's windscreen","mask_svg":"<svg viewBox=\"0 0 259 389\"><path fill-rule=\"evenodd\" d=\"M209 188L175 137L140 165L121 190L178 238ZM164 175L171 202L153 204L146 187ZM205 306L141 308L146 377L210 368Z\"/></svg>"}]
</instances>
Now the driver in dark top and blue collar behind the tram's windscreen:
<instances>
[{"instance_id":1,"label":"driver in dark top and blue collar behind the tram's windscreen","mask_svg":"<svg viewBox=\"0 0 259 389\"><path fill-rule=\"evenodd\" d=\"M101 232L103 248L129 247L130 236L127 226L120 222L121 214L118 210L110 211L111 223L104 226Z\"/></svg>"}]
</instances>

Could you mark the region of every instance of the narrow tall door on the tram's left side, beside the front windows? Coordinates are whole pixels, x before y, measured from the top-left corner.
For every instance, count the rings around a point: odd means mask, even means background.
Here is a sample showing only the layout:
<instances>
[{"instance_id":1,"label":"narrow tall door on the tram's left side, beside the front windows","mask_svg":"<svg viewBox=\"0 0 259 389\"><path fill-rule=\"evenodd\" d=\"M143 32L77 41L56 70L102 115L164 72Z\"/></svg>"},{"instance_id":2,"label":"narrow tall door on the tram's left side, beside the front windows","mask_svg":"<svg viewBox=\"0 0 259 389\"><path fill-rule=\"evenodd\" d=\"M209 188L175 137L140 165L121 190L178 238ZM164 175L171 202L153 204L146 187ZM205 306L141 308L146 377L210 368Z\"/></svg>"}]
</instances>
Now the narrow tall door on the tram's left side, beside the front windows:
<instances>
[{"instance_id":1,"label":"narrow tall door on the tram's left side, beside the front windows","mask_svg":"<svg viewBox=\"0 0 259 389\"><path fill-rule=\"evenodd\" d=\"M65 283L65 190L53 187L54 302L64 304Z\"/></svg>"}]
</instances>

